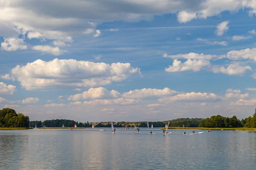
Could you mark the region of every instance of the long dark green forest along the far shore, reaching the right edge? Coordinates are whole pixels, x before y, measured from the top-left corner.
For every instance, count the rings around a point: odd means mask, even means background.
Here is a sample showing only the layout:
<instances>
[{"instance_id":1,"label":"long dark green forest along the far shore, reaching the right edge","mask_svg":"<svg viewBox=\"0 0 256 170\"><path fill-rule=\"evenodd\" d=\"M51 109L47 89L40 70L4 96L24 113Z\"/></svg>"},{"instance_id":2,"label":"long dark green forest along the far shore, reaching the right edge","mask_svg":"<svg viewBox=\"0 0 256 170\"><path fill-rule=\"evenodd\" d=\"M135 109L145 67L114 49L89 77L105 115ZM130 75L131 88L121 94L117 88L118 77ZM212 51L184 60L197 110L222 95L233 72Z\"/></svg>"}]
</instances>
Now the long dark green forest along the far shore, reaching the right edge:
<instances>
[{"instance_id":1,"label":"long dark green forest along the far shore, reaching the right edge","mask_svg":"<svg viewBox=\"0 0 256 170\"><path fill-rule=\"evenodd\" d=\"M115 127L134 127L135 124L138 127L165 127L165 125L169 123L169 127L249 127L256 128L256 109L253 116L249 116L245 119L237 119L236 116L232 117L224 117L221 115L211 116L210 118L179 118L173 119L169 121L158 121L158 122L113 122ZM76 124L77 127L111 127L111 122L76 122L74 120L67 119L55 119L55 120L45 120L41 121L31 121L29 123L30 127L74 127Z\"/></svg>"}]
</instances>

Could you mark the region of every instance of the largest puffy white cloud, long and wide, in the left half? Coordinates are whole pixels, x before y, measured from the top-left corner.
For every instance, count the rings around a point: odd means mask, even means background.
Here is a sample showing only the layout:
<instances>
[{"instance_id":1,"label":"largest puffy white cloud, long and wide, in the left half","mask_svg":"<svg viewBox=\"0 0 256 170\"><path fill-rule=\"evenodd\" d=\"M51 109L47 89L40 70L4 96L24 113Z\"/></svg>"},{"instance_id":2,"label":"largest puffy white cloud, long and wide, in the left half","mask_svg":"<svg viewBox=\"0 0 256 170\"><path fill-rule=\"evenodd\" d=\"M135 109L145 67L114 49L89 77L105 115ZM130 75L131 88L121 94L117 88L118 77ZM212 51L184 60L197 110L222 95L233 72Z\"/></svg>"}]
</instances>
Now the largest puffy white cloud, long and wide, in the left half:
<instances>
[{"instance_id":1,"label":"largest puffy white cloud, long and wide, in the left half","mask_svg":"<svg viewBox=\"0 0 256 170\"><path fill-rule=\"evenodd\" d=\"M77 61L75 59L53 59L45 62L41 59L16 65L12 76L26 90L94 87L121 82L133 74L140 74L139 68L130 63L112 63Z\"/></svg>"}]
</instances>

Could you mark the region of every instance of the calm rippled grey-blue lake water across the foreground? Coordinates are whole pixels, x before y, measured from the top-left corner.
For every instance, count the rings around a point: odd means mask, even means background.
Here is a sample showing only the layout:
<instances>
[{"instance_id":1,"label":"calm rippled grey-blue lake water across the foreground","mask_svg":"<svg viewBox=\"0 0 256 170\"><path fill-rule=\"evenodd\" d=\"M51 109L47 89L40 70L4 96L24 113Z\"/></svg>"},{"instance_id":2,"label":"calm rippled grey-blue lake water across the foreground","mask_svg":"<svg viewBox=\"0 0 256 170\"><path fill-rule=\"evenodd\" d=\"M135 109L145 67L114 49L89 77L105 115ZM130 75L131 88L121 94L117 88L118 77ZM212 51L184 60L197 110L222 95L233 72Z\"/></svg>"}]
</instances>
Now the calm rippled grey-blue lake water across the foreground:
<instances>
[{"instance_id":1,"label":"calm rippled grey-blue lake water across the foreground","mask_svg":"<svg viewBox=\"0 0 256 170\"><path fill-rule=\"evenodd\" d=\"M0 130L1 170L255 170L256 133L140 128ZM187 130L191 133L192 130ZM195 130L196 132L202 130Z\"/></svg>"}]
</instances>

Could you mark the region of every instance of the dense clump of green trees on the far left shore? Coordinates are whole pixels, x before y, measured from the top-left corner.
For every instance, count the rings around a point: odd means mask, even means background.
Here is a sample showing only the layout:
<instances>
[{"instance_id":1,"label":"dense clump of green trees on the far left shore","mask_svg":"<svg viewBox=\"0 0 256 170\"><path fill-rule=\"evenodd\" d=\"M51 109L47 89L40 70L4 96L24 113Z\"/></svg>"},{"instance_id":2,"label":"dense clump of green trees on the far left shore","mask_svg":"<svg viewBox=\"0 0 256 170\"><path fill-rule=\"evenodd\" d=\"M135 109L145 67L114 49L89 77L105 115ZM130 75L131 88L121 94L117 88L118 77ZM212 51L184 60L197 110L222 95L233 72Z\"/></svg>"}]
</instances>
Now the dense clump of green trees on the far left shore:
<instances>
[{"instance_id":1,"label":"dense clump of green trees on the far left shore","mask_svg":"<svg viewBox=\"0 0 256 170\"><path fill-rule=\"evenodd\" d=\"M11 108L0 110L0 127L29 127L29 116L16 113Z\"/></svg>"}]
</instances>

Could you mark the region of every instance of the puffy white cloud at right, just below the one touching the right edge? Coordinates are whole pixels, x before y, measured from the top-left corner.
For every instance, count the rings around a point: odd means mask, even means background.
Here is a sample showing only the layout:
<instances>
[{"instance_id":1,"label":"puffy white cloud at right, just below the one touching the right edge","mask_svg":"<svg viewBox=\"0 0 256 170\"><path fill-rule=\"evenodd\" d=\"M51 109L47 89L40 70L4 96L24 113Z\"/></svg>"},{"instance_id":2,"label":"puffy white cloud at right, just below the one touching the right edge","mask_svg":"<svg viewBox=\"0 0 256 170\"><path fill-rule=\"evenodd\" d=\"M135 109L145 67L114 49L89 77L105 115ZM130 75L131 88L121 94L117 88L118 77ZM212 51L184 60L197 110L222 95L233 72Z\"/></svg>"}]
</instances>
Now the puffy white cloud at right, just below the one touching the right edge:
<instances>
[{"instance_id":1,"label":"puffy white cloud at right, just below the one touching the right edge","mask_svg":"<svg viewBox=\"0 0 256 170\"><path fill-rule=\"evenodd\" d=\"M239 63L230 64L227 68L219 65L212 66L213 73L223 73L228 75L243 75L247 70L252 71L252 68L248 65L239 65Z\"/></svg>"}]
</instances>

